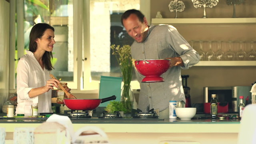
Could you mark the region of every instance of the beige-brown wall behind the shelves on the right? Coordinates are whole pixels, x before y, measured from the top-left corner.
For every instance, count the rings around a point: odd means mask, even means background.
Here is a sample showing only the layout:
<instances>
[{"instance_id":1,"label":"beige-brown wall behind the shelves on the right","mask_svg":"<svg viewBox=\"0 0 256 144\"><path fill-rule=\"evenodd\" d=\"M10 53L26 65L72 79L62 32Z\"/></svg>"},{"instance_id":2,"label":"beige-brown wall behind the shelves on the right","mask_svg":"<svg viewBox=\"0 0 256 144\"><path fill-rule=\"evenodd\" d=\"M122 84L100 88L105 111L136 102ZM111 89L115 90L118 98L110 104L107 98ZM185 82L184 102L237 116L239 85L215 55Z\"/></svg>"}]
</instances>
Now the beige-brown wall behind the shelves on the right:
<instances>
[{"instance_id":1,"label":"beige-brown wall behind the shelves on the right","mask_svg":"<svg viewBox=\"0 0 256 144\"><path fill-rule=\"evenodd\" d=\"M202 18L203 8L194 8L191 0L183 0L186 8L178 12L178 18ZM155 18L158 11L163 18L175 18L175 12L170 12L170 0L151 0L151 18ZM244 4L236 6L237 17L256 17L256 1L246 0ZM213 8L206 8L208 18L231 18L233 7L226 4L226 0L219 0ZM187 40L256 40L256 26L211 26L204 30L194 26L176 26L180 34ZM238 34L239 33L239 34ZM196 49L196 48L195 48ZM224 48L226 49L226 48ZM204 86L250 86L256 81L256 66L194 66L189 70L182 70L182 74L189 74L188 86L192 103L202 103Z\"/></svg>"}]
</instances>

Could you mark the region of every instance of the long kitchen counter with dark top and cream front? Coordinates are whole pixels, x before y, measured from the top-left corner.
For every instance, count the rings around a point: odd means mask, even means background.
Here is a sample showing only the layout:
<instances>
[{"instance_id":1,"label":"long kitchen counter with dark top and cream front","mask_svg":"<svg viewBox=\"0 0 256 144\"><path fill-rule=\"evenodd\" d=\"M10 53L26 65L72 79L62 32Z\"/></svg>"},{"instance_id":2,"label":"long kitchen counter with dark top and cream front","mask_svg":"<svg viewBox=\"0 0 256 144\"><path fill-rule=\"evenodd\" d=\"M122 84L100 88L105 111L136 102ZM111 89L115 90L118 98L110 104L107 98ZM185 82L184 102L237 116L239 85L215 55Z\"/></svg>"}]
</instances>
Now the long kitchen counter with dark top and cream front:
<instances>
[{"instance_id":1,"label":"long kitchen counter with dark top and cream front","mask_svg":"<svg viewBox=\"0 0 256 144\"><path fill-rule=\"evenodd\" d=\"M47 118L0 119L0 127L6 128L9 137L15 127L36 128ZM201 144L236 143L240 120L172 120L172 119L71 119L74 131L84 126L98 126L106 134L111 144L158 144L162 140L194 140ZM11 134L11 135L10 135ZM125 142L123 142L123 140Z\"/></svg>"}]
</instances>

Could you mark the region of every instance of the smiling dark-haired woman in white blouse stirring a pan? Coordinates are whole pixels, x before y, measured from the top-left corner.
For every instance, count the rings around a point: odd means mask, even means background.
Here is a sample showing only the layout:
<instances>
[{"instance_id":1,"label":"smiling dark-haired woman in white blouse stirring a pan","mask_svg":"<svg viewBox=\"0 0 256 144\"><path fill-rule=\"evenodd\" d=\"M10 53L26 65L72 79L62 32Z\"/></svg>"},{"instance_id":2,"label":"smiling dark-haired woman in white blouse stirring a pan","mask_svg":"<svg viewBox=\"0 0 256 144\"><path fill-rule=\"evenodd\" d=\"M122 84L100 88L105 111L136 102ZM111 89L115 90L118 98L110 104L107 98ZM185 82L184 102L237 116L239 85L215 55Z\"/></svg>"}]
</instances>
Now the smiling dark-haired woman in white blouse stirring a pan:
<instances>
[{"instance_id":1,"label":"smiling dark-haired woman in white blouse stirring a pan","mask_svg":"<svg viewBox=\"0 0 256 144\"><path fill-rule=\"evenodd\" d=\"M50 78L54 28L39 23L30 32L29 50L17 66L18 104L16 114L30 115L31 104L38 103L38 113L52 112L52 89L59 80ZM70 89L69 89L70 90Z\"/></svg>"}]
</instances>

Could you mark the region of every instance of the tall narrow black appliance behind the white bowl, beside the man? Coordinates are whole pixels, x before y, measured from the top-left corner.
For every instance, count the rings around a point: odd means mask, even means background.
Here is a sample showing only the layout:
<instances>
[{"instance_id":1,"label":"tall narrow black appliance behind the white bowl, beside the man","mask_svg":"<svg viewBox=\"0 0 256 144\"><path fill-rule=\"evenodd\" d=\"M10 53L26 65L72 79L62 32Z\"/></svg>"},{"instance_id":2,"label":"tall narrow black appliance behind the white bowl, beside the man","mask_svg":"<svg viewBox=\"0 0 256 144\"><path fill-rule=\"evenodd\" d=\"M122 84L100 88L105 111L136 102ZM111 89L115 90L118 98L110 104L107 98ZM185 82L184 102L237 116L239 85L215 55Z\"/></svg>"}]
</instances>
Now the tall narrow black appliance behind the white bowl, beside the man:
<instances>
[{"instance_id":1,"label":"tall narrow black appliance behind the white bowl, beside the man","mask_svg":"<svg viewBox=\"0 0 256 144\"><path fill-rule=\"evenodd\" d=\"M184 94L185 94L185 98L186 98L186 108L191 108L191 99L190 99L190 87L187 86L187 80L188 80L189 75L181 75L182 78L182 86L183 86L183 90L184 90Z\"/></svg>"}]
</instances>

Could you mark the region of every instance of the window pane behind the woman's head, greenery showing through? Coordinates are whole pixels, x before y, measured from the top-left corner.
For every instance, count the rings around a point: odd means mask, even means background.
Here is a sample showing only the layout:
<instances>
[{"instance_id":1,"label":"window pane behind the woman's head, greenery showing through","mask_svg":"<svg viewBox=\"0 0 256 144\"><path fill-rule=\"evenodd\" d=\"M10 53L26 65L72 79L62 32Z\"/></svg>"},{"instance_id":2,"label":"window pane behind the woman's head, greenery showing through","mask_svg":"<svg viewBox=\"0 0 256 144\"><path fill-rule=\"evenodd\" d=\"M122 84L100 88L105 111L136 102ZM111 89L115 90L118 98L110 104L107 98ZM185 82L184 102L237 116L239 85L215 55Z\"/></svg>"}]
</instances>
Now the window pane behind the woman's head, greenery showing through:
<instances>
[{"instance_id":1,"label":"window pane behind the woman's head, greenery showing through","mask_svg":"<svg viewBox=\"0 0 256 144\"><path fill-rule=\"evenodd\" d=\"M62 81L73 81L73 0L24 0L24 48L28 48L29 34L37 23L54 27L52 74ZM69 86L72 88L72 86Z\"/></svg>"}]
</instances>

